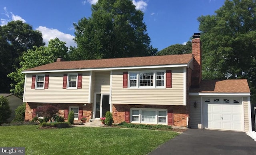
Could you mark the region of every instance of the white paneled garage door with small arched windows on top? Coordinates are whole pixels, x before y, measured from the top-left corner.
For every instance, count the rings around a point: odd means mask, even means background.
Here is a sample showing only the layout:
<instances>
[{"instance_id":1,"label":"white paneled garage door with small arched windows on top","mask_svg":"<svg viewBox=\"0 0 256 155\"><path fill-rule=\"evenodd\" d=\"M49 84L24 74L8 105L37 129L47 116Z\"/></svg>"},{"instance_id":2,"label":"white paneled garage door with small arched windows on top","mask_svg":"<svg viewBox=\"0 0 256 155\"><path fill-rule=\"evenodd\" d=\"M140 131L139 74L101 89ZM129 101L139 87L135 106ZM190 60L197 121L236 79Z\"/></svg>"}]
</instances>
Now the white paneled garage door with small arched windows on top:
<instances>
[{"instance_id":1,"label":"white paneled garage door with small arched windows on top","mask_svg":"<svg viewBox=\"0 0 256 155\"><path fill-rule=\"evenodd\" d=\"M242 104L240 99L205 98L203 127L242 131Z\"/></svg>"}]
</instances>

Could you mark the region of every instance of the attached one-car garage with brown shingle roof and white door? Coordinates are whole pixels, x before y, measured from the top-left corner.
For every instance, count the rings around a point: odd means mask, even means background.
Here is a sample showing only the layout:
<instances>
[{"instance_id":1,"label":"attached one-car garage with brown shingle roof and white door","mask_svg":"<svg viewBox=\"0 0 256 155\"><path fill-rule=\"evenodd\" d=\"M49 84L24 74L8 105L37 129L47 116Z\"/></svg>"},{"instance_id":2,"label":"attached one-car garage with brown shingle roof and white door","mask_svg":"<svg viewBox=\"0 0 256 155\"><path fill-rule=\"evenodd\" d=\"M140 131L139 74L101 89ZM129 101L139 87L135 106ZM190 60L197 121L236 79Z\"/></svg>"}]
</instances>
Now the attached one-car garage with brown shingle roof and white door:
<instances>
[{"instance_id":1,"label":"attached one-car garage with brown shingle roof and white door","mask_svg":"<svg viewBox=\"0 0 256 155\"><path fill-rule=\"evenodd\" d=\"M202 80L190 89L189 127L252 131L250 89L246 79Z\"/></svg>"}]
</instances>

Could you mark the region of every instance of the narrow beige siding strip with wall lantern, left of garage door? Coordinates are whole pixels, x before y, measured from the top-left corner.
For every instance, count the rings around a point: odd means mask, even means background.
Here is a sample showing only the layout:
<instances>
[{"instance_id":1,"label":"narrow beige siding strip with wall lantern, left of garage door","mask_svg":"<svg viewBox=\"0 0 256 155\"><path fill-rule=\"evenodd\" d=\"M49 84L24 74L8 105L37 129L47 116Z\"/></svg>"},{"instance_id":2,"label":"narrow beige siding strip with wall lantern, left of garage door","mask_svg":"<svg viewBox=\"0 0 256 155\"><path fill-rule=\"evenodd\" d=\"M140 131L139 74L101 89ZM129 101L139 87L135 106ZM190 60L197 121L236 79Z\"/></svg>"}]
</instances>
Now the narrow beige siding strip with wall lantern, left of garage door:
<instances>
[{"instance_id":1,"label":"narrow beige siding strip with wall lantern, left of garage door","mask_svg":"<svg viewBox=\"0 0 256 155\"><path fill-rule=\"evenodd\" d=\"M194 107L194 103L196 101L196 107ZM189 124L192 128L201 129L201 101L200 97L190 96L189 99Z\"/></svg>"}]
</instances>

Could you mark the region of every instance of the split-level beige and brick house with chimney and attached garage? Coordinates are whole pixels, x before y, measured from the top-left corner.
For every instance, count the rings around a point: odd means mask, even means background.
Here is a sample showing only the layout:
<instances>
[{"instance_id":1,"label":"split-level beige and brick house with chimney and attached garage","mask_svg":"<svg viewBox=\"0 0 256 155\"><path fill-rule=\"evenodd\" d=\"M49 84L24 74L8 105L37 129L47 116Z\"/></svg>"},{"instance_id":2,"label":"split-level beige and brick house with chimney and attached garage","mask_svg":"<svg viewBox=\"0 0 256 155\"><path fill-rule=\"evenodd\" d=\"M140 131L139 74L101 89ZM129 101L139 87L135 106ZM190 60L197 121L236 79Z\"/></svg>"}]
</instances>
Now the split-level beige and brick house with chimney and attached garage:
<instances>
[{"instance_id":1,"label":"split-level beige and brick house with chimney and attached garage","mask_svg":"<svg viewBox=\"0 0 256 155\"><path fill-rule=\"evenodd\" d=\"M46 103L75 120L251 131L246 79L202 80L200 34L192 54L56 62L24 70L25 119Z\"/></svg>"}]
</instances>

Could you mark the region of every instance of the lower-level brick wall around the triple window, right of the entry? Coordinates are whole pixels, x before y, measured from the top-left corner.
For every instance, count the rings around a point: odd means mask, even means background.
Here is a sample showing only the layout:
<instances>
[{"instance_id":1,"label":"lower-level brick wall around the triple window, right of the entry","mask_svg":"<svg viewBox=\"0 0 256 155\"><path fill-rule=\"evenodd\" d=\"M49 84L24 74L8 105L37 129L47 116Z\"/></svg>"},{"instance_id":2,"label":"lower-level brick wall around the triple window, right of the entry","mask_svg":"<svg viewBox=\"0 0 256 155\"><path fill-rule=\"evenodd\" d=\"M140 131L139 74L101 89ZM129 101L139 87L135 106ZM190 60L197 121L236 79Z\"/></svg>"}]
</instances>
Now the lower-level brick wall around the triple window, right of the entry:
<instances>
[{"instance_id":1,"label":"lower-level brick wall around the triple window, right of the entry","mask_svg":"<svg viewBox=\"0 0 256 155\"><path fill-rule=\"evenodd\" d=\"M121 123L125 118L125 111L130 108L154 108L168 109L173 112L174 126L186 127L188 117L188 105L132 105L132 104L113 104L112 114L114 123Z\"/></svg>"}]
</instances>

